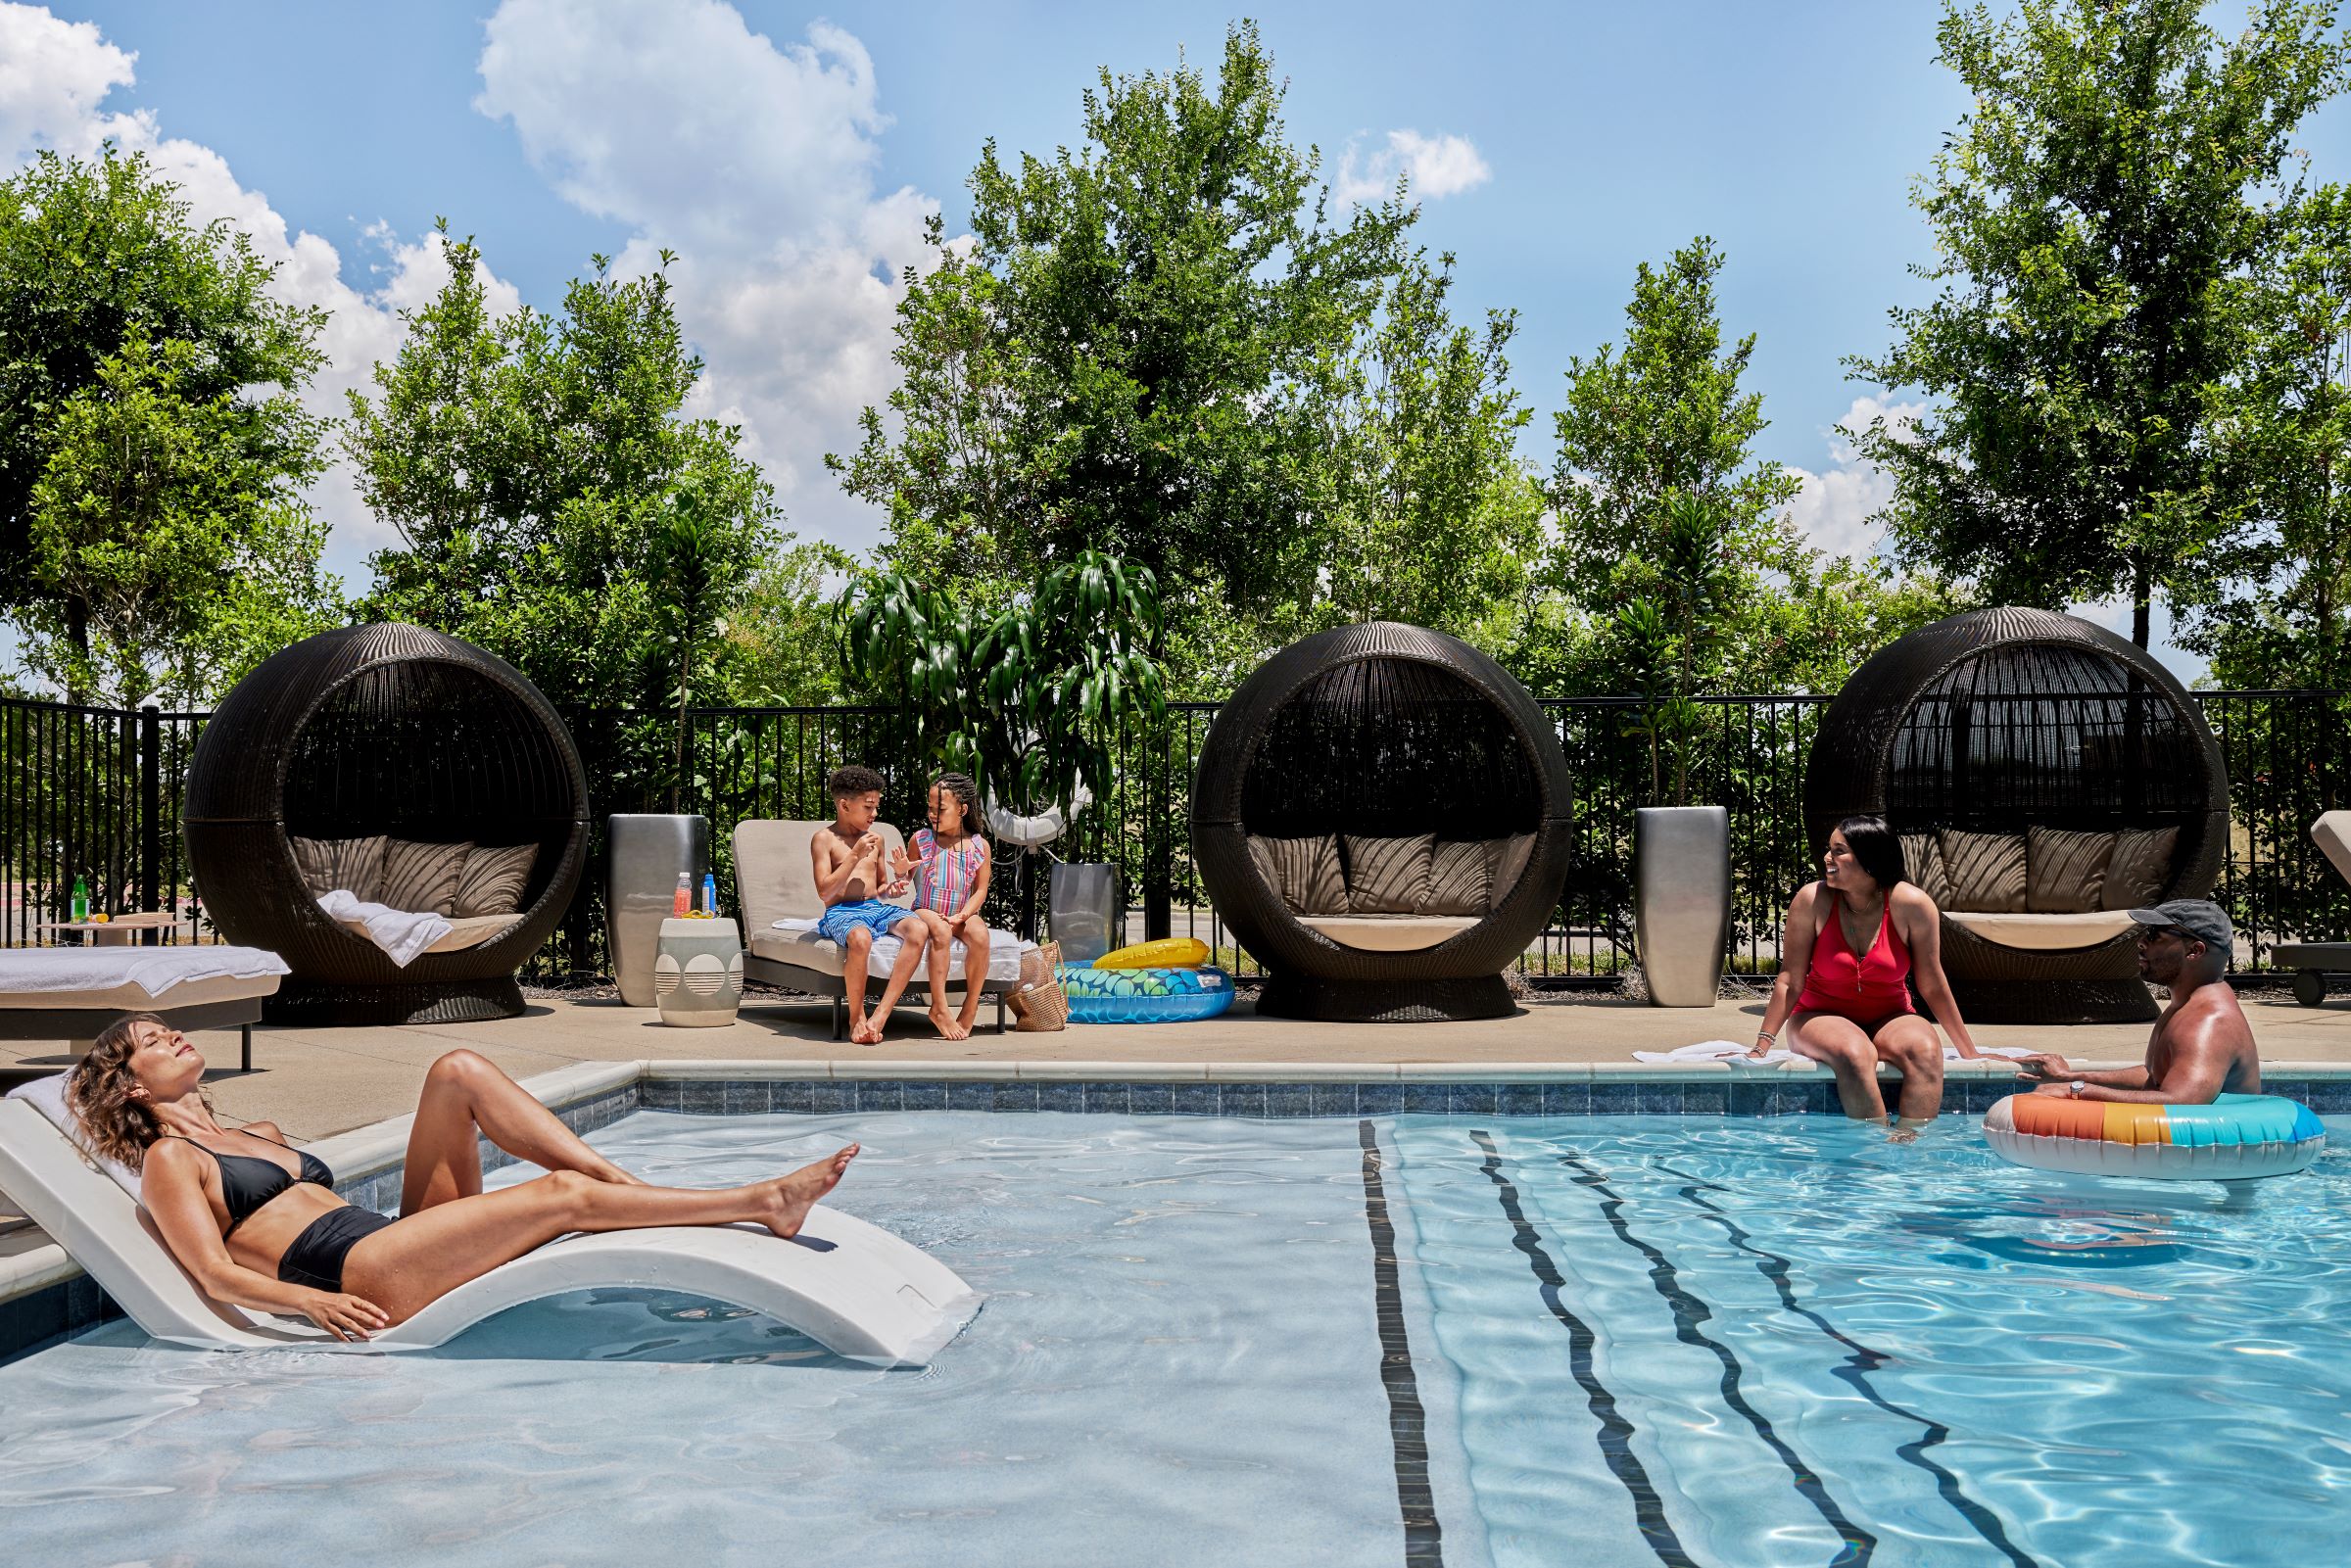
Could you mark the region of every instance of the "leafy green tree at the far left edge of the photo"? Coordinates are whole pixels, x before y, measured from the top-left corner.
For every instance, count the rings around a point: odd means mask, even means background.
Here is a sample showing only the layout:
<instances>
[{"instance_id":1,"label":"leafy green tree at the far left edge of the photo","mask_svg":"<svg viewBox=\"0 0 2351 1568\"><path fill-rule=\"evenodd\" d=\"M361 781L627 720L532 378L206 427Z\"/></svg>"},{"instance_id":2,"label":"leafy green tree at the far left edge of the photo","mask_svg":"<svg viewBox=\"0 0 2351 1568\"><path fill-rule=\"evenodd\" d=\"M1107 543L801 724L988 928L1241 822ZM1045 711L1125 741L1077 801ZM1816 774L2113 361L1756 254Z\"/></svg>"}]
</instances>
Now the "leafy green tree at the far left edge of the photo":
<instances>
[{"instance_id":1,"label":"leafy green tree at the far left edge of the photo","mask_svg":"<svg viewBox=\"0 0 2351 1568\"><path fill-rule=\"evenodd\" d=\"M139 153L0 181L0 614L78 698L205 701L334 616L299 501L320 310Z\"/></svg>"}]
</instances>

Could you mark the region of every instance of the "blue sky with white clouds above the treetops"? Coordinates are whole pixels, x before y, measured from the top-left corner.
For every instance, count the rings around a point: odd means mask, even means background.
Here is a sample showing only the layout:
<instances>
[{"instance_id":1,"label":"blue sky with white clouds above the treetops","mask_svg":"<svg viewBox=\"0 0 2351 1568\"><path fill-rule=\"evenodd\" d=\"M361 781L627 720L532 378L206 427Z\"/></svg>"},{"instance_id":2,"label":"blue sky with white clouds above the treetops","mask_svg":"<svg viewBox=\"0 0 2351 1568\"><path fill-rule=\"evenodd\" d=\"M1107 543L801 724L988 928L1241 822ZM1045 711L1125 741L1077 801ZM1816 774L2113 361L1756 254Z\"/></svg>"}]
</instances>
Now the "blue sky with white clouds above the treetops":
<instances>
[{"instance_id":1,"label":"blue sky with white clouds above the treetops","mask_svg":"<svg viewBox=\"0 0 2351 1568\"><path fill-rule=\"evenodd\" d=\"M1418 167L1418 233L1458 254L1458 303L1521 313L1516 383L1545 465L1568 355L1620 334L1639 261L1714 235L1730 256L1726 324L1759 334L1761 451L1815 475L1799 520L1831 548L1869 548L1883 491L1829 435L1876 393L1841 357L1881 350L1888 306L1923 299L1904 270L1930 254L1907 190L1965 108L1933 63L1937 14L1923 0L1255 9L1291 82L1291 134L1319 143L1333 176ZM2238 14L2215 7L2224 26ZM884 280L912 259L922 214L959 233L985 139L1049 153L1077 136L1096 68L1166 68L1180 49L1213 68L1232 16L1180 2L0 5L0 155L115 134L153 146L207 214L259 226L289 261L287 292L336 310L322 407L397 343L393 308L430 294L421 240L440 214L482 242L505 299L536 306L557 303L590 252L628 268L670 244L712 364L705 407L745 421L792 527L865 548L872 517L818 458L889 388ZM2318 179L2342 176L2351 115L2332 106L2302 143ZM1399 146L1434 158L1413 165ZM322 482L320 505L334 564L364 581L386 536L348 475Z\"/></svg>"}]
</instances>

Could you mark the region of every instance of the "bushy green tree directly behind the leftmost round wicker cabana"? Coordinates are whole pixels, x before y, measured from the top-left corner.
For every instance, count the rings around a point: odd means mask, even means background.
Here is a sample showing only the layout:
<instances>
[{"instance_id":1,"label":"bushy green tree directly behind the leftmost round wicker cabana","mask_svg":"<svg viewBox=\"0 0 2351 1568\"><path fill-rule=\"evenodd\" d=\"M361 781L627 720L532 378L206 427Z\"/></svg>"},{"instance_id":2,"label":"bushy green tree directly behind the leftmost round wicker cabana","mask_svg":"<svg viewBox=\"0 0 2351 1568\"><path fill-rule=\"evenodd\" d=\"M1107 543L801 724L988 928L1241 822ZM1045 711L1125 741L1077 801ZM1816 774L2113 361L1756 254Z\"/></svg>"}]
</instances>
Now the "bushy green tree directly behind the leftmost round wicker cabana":
<instances>
[{"instance_id":1,"label":"bushy green tree directly behind the leftmost round wicker cabana","mask_svg":"<svg viewBox=\"0 0 2351 1568\"><path fill-rule=\"evenodd\" d=\"M600 256L562 313L494 320L475 247L442 247L449 282L404 315L376 397L350 395L360 494L402 538L374 557L369 611L477 642L555 703L726 691L719 621L778 510L734 425L682 416L703 367L668 275L611 277Z\"/></svg>"}]
</instances>

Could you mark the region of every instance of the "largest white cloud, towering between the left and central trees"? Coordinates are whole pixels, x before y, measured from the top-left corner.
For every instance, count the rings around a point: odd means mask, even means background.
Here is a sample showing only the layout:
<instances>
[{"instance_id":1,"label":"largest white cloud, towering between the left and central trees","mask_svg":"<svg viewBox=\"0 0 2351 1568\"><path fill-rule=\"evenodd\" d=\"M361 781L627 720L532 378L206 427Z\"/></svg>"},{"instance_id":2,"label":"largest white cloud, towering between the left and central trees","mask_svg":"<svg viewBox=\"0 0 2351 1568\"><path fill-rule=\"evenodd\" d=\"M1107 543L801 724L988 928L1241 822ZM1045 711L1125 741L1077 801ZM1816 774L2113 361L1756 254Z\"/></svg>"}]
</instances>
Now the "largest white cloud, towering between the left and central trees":
<instances>
[{"instance_id":1,"label":"largest white cloud, towering between the left and central trees","mask_svg":"<svg viewBox=\"0 0 2351 1568\"><path fill-rule=\"evenodd\" d=\"M882 512L823 470L898 381L900 273L938 202L875 190L889 125L865 45L830 24L778 47L717 0L505 0L475 108L583 212L670 247L677 315L708 374L691 411L743 425L790 522L849 548Z\"/></svg>"}]
</instances>

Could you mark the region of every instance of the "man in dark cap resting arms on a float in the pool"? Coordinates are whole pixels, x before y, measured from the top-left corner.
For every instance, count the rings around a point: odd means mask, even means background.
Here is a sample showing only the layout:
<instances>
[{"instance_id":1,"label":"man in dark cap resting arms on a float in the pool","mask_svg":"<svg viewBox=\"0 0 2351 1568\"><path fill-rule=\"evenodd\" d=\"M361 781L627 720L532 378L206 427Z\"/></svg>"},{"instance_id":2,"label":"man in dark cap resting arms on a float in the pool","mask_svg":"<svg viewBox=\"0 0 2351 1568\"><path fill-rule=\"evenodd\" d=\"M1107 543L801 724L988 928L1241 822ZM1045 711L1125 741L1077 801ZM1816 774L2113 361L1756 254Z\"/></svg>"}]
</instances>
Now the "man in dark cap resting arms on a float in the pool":
<instances>
[{"instance_id":1,"label":"man in dark cap resting arms on a float in the pool","mask_svg":"<svg viewBox=\"0 0 2351 1568\"><path fill-rule=\"evenodd\" d=\"M2252 1025L2222 978L2236 943L2229 914L2203 898L2172 898L2132 910L2130 919L2139 922L2139 978L2172 992L2146 1041L2146 1063L2074 1072L2062 1056L2041 1053L2017 1058L2017 1077L2038 1079L2034 1093L2139 1105L2210 1105L2224 1093L2262 1093Z\"/></svg>"}]
</instances>

